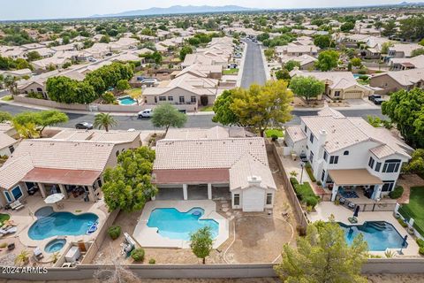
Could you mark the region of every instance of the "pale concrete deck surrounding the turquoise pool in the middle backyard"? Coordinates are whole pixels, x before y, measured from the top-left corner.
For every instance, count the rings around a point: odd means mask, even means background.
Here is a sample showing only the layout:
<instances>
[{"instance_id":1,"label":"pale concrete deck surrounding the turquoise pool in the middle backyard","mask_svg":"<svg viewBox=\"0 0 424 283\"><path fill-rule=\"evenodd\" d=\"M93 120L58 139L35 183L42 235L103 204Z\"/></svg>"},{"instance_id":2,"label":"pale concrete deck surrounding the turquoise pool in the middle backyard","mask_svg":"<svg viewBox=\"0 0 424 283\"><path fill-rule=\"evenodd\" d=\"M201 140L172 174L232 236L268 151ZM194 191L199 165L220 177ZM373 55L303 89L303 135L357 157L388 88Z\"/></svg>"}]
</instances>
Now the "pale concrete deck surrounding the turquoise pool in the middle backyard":
<instances>
[{"instance_id":1,"label":"pale concrete deck surrounding the turquoise pool in the middle backyard","mask_svg":"<svg viewBox=\"0 0 424 283\"><path fill-rule=\"evenodd\" d=\"M189 249L190 241L176 240L165 238L157 233L157 228L148 227L148 218L152 210L158 208L175 208L180 212L186 212L195 207L200 207L205 210L205 214L201 219L213 219L219 225L218 235L214 241L213 248L218 248L230 235L229 221L222 215L216 212L216 203L208 200L196 201L152 201L146 203L140 218L138 219L137 226L135 226L133 238L141 247L146 248L179 248Z\"/></svg>"}]
</instances>

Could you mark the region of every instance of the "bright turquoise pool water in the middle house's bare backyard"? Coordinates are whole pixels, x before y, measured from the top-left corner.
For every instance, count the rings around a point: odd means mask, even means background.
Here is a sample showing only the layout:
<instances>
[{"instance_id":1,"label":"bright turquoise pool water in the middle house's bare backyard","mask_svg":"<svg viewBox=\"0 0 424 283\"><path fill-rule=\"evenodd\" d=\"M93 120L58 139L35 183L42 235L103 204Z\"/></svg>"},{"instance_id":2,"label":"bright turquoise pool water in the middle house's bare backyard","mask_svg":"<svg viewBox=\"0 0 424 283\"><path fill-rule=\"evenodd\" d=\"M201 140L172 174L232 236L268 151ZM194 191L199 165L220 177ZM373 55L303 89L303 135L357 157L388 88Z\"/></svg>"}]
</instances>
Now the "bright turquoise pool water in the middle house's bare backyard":
<instances>
[{"instance_id":1,"label":"bright turquoise pool water in the middle house's bare backyard","mask_svg":"<svg viewBox=\"0 0 424 283\"><path fill-rule=\"evenodd\" d=\"M200 219L204 213L205 210L201 208L193 208L186 212L174 208L155 209L150 213L148 226L157 227L158 233L163 237L185 241L190 240L190 233L209 226L215 239L219 225L213 219Z\"/></svg>"}]
</instances>

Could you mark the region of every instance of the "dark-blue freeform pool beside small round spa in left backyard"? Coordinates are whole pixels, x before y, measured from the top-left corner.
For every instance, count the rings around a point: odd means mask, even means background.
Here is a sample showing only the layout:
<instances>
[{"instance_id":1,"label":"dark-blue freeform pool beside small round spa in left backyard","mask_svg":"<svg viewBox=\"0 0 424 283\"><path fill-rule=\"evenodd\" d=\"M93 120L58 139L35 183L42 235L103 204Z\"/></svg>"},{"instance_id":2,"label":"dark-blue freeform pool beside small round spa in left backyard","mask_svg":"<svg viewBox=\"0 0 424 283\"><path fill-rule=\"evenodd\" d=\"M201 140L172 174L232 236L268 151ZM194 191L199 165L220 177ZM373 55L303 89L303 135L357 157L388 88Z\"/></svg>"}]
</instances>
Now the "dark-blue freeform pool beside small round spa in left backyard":
<instances>
[{"instance_id":1,"label":"dark-blue freeform pool beside small round spa in left backyard","mask_svg":"<svg viewBox=\"0 0 424 283\"><path fill-rule=\"evenodd\" d=\"M44 207L35 212L38 218L29 228L28 236L33 240L44 240L54 236L84 235L89 226L98 220L94 213L75 215L71 212L55 212Z\"/></svg>"}]
</instances>

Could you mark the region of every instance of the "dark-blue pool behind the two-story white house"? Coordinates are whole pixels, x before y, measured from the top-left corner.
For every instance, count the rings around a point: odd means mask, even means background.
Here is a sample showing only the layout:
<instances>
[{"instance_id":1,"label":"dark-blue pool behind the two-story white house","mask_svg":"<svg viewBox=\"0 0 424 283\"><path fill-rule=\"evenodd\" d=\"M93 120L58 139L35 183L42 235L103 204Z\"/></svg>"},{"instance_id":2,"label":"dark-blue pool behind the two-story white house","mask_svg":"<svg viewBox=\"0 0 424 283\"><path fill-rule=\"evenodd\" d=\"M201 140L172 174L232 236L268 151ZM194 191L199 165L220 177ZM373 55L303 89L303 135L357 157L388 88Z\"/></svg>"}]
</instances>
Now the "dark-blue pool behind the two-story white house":
<instances>
[{"instance_id":1,"label":"dark-blue pool behind the two-story white house","mask_svg":"<svg viewBox=\"0 0 424 283\"><path fill-rule=\"evenodd\" d=\"M364 235L364 240L368 243L371 251L385 251L386 249L402 249L403 237L398 230L385 221L367 221L363 225L347 226L338 223L345 230L345 239L348 244L352 244L353 239L359 234Z\"/></svg>"}]
</instances>

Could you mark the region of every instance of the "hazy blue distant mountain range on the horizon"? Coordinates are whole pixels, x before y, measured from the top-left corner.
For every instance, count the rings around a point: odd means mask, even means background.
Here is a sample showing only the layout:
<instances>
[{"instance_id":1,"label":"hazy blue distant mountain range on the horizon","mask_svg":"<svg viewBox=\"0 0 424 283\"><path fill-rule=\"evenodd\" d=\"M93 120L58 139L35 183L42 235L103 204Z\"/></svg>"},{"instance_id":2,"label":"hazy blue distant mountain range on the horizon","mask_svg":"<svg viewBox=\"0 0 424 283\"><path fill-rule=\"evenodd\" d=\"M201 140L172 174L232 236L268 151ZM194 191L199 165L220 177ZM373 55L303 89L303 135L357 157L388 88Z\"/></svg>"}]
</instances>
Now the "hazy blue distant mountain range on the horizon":
<instances>
[{"instance_id":1,"label":"hazy blue distant mountain range on the horizon","mask_svg":"<svg viewBox=\"0 0 424 283\"><path fill-rule=\"evenodd\" d=\"M123 11L116 14L94 15L93 18L102 17L131 17L131 16L150 16L150 15L167 15L167 14L188 14L201 12L223 12L223 11L254 11L257 9L240 7L236 5L225 6L170 6L168 8L152 7L145 10Z\"/></svg>"}]
</instances>

